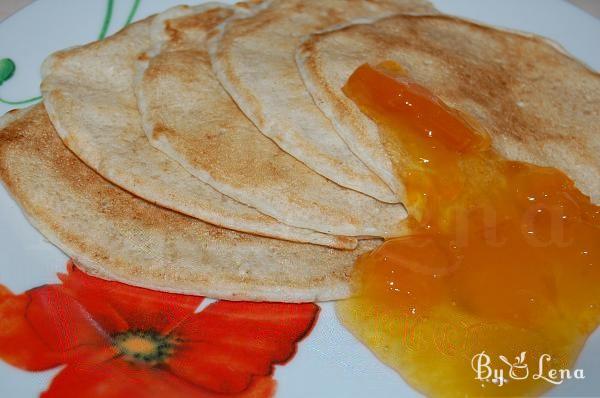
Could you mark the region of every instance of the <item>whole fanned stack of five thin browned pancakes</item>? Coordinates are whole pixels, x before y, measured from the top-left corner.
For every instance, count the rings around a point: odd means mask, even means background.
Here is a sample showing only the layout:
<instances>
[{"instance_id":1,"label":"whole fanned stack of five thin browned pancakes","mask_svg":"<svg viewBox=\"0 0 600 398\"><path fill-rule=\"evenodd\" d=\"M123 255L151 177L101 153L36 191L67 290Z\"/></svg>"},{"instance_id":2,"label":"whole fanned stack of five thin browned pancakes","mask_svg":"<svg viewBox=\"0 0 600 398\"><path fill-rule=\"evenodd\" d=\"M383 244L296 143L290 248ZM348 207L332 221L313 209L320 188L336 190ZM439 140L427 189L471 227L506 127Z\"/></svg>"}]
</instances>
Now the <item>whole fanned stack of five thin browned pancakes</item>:
<instances>
[{"instance_id":1,"label":"whole fanned stack of five thin browned pancakes","mask_svg":"<svg viewBox=\"0 0 600 398\"><path fill-rule=\"evenodd\" d=\"M387 59L505 156L600 198L597 74L422 0L181 6L53 54L43 104L0 121L0 177L88 273L230 300L345 298L356 258L407 232L402 181L341 91Z\"/></svg>"}]
</instances>

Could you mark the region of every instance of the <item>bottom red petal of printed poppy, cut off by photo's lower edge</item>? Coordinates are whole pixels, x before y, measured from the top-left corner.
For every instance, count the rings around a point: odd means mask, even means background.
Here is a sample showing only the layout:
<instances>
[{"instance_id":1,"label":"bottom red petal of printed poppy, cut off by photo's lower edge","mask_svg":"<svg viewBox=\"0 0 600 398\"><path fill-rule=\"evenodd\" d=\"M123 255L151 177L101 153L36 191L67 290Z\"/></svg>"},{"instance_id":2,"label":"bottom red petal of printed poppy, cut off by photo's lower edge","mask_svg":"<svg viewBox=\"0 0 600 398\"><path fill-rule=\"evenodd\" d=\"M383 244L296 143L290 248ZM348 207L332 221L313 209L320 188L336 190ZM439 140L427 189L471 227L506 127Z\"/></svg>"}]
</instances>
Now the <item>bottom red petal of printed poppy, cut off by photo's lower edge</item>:
<instances>
[{"instance_id":1,"label":"bottom red petal of printed poppy, cut off by photo's lower edge","mask_svg":"<svg viewBox=\"0 0 600 398\"><path fill-rule=\"evenodd\" d=\"M272 396L275 383L261 378L233 397ZM222 398L158 367L146 367L115 358L103 363L67 366L41 398Z\"/></svg>"}]
</instances>

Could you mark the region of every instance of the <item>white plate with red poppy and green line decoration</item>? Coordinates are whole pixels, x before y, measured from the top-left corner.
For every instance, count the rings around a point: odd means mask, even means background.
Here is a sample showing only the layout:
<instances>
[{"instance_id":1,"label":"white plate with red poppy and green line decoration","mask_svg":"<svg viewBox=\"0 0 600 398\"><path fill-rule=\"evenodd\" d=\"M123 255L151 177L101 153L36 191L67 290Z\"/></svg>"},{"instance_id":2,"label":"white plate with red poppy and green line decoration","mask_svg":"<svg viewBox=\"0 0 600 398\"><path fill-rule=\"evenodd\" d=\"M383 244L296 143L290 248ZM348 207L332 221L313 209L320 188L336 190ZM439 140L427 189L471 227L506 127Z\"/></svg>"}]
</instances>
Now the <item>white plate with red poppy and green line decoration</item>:
<instances>
[{"instance_id":1,"label":"white plate with red poppy and green line decoration","mask_svg":"<svg viewBox=\"0 0 600 398\"><path fill-rule=\"evenodd\" d=\"M133 0L115 2L109 33L123 26ZM594 69L600 68L600 22L560 0L433 0L443 12L502 27L541 34L562 44ZM177 0L142 0L136 19L177 5ZM51 52L95 40L106 0L38 0L0 24L0 58L11 58L15 75L0 97L23 100L39 95L39 66ZM0 104L0 114L11 106ZM0 283L14 292L57 282L66 257L46 242L0 189ZM468 366L468 364L465 364ZM600 392L600 333L588 341L577 368L585 380L571 380L549 395L593 396ZM0 397L33 397L58 372L28 373L0 362ZM322 306L316 328L296 357L275 373L280 397L410 397L418 394L358 343Z\"/></svg>"}]
</instances>

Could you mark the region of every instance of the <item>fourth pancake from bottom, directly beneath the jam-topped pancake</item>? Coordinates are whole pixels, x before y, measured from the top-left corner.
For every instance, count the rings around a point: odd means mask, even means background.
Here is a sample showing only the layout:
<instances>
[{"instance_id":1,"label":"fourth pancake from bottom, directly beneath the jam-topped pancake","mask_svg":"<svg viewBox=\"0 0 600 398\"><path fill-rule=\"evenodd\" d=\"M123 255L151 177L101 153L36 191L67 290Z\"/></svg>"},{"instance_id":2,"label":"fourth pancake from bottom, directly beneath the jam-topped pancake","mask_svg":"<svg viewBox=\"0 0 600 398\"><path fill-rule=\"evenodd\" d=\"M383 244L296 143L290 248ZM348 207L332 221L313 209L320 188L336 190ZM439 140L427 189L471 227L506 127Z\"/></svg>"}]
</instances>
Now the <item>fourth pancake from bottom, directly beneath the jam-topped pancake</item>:
<instances>
[{"instance_id":1,"label":"fourth pancake from bottom, directly beneath the jam-topped pancake","mask_svg":"<svg viewBox=\"0 0 600 398\"><path fill-rule=\"evenodd\" d=\"M396 180L383 181L348 148L314 104L294 54L302 37L356 18L432 11L420 0L272 0L222 24L209 43L213 69L263 134L341 186L397 203Z\"/></svg>"}]
</instances>

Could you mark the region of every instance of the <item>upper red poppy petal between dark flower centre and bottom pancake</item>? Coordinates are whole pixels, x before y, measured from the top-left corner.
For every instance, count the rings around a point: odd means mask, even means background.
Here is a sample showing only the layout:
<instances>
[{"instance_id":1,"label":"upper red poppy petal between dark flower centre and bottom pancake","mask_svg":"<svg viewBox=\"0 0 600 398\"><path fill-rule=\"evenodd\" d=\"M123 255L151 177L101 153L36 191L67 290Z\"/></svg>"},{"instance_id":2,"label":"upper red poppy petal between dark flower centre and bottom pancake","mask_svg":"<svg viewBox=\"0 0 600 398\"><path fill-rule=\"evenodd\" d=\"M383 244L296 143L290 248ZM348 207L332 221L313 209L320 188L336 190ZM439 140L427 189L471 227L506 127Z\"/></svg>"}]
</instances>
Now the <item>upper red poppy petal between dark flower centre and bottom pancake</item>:
<instances>
[{"instance_id":1,"label":"upper red poppy petal between dark flower centre and bottom pancake","mask_svg":"<svg viewBox=\"0 0 600 398\"><path fill-rule=\"evenodd\" d=\"M60 275L63 286L86 303L103 302L116 311L129 330L153 330L167 334L192 315L203 298L143 289L89 276L72 262L68 273ZM95 298L95 300L90 300Z\"/></svg>"}]
</instances>

